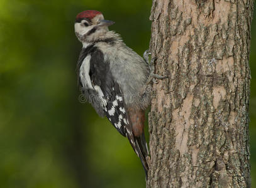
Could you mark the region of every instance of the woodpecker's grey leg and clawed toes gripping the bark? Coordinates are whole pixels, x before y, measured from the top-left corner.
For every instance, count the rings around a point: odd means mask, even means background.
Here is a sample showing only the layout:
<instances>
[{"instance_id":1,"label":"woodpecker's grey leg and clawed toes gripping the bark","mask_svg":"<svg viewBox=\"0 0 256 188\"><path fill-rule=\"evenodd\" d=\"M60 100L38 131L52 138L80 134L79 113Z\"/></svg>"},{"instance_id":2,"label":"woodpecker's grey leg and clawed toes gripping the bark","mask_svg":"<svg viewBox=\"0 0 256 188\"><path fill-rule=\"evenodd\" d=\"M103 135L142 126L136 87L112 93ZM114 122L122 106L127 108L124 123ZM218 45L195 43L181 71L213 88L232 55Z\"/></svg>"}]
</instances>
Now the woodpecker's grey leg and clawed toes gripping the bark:
<instances>
[{"instance_id":1,"label":"woodpecker's grey leg and clawed toes gripping the bark","mask_svg":"<svg viewBox=\"0 0 256 188\"><path fill-rule=\"evenodd\" d=\"M164 78L168 78L167 75L161 76L161 75L155 74L155 60L157 60L157 58L152 58L150 60L150 63L149 63L149 57L148 57L149 55L151 55L151 53L148 52L148 50L146 50L143 53L143 58L144 58L144 60L146 61L147 65L148 65L150 74L148 76L147 82L145 83L145 86L143 86L143 88L142 88L142 92L140 92L141 95L143 95L145 93L145 91L147 90L147 87L148 87L148 85L150 84L151 81L153 81L153 83L158 83L158 81L156 79L162 80Z\"/></svg>"}]
</instances>

